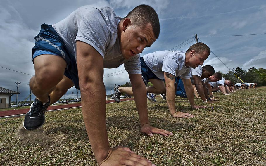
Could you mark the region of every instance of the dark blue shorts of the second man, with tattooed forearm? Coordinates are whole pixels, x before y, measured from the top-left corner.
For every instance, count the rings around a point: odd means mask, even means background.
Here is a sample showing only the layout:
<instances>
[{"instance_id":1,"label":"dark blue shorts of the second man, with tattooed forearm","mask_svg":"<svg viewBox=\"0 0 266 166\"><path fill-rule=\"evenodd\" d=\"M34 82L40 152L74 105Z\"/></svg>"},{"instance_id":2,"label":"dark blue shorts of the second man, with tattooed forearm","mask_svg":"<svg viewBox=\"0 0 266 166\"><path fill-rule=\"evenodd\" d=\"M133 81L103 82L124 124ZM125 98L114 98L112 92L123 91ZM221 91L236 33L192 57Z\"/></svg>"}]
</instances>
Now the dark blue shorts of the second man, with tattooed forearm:
<instances>
[{"instance_id":1,"label":"dark blue shorts of the second man, with tattooed forearm","mask_svg":"<svg viewBox=\"0 0 266 166\"><path fill-rule=\"evenodd\" d=\"M163 79L156 77L156 75L151 71L151 69L148 68L148 66L146 65L142 57L140 57L140 63L141 63L141 76L146 86L149 82L149 79L163 80Z\"/></svg>"}]
</instances>

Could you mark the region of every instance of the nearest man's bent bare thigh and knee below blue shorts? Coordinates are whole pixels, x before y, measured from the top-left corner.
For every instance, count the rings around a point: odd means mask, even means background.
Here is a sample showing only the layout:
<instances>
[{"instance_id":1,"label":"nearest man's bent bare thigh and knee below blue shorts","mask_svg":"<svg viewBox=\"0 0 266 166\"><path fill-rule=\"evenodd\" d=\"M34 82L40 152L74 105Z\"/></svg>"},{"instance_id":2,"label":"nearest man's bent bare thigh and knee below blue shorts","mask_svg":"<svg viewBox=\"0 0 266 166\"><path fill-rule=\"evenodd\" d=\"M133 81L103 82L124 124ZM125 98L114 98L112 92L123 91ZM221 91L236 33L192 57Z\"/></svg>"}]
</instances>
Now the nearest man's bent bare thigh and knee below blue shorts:
<instances>
[{"instance_id":1,"label":"nearest man's bent bare thigh and knee below blue shorts","mask_svg":"<svg viewBox=\"0 0 266 166\"><path fill-rule=\"evenodd\" d=\"M66 62L60 56L40 55L34 58L35 75L30 79L32 93L42 103L63 78Z\"/></svg>"}]
</instances>

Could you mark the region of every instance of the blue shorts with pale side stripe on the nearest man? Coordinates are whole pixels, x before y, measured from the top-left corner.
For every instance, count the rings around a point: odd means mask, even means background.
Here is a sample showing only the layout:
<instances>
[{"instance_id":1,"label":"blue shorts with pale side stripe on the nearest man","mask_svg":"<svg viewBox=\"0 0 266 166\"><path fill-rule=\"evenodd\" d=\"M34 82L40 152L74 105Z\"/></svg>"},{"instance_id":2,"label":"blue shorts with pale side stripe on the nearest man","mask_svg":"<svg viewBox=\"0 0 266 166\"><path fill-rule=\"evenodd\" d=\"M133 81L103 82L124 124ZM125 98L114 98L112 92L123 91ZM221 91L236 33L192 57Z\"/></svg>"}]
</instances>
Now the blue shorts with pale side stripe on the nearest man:
<instances>
[{"instance_id":1,"label":"blue shorts with pale side stripe on the nearest man","mask_svg":"<svg viewBox=\"0 0 266 166\"><path fill-rule=\"evenodd\" d=\"M35 46L32 48L32 62L36 56L43 54L62 57L67 63L65 76L73 81L75 88L80 89L75 55L68 54L63 39L53 29L52 25L42 24L40 33L34 39Z\"/></svg>"}]
</instances>

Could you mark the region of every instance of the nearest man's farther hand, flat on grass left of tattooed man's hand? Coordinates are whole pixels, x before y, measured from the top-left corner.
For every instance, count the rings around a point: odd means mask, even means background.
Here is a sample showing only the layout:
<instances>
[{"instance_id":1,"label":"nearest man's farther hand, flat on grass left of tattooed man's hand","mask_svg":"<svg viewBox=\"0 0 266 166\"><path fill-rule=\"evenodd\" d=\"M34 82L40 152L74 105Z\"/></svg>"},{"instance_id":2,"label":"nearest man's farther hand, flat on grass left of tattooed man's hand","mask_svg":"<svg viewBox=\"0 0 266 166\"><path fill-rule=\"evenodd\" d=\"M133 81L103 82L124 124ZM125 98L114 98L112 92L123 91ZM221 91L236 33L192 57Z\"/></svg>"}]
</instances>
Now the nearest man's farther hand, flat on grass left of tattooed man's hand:
<instances>
[{"instance_id":1,"label":"nearest man's farther hand, flat on grass left of tattooed man's hand","mask_svg":"<svg viewBox=\"0 0 266 166\"><path fill-rule=\"evenodd\" d=\"M167 130L158 129L156 127L151 126L150 124L144 124L140 132L149 136L153 136L153 134L161 134L163 136L172 136L173 133L168 132Z\"/></svg>"}]
</instances>

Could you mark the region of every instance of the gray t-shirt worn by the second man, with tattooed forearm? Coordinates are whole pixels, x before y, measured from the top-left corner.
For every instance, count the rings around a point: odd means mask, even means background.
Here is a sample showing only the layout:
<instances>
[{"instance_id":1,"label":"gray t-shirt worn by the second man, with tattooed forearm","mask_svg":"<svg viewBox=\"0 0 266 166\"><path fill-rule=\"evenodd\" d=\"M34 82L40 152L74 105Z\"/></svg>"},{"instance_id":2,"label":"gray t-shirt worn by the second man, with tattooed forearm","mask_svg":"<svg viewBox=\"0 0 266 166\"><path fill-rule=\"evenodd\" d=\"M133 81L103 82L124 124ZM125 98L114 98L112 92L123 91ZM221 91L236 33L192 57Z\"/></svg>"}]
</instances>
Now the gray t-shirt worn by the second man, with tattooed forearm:
<instances>
[{"instance_id":1,"label":"gray t-shirt worn by the second man, with tattooed forearm","mask_svg":"<svg viewBox=\"0 0 266 166\"><path fill-rule=\"evenodd\" d=\"M164 79L163 73L181 76L184 79L190 78L190 69L185 65L184 51L156 51L143 56L148 68L160 79Z\"/></svg>"}]
</instances>

